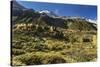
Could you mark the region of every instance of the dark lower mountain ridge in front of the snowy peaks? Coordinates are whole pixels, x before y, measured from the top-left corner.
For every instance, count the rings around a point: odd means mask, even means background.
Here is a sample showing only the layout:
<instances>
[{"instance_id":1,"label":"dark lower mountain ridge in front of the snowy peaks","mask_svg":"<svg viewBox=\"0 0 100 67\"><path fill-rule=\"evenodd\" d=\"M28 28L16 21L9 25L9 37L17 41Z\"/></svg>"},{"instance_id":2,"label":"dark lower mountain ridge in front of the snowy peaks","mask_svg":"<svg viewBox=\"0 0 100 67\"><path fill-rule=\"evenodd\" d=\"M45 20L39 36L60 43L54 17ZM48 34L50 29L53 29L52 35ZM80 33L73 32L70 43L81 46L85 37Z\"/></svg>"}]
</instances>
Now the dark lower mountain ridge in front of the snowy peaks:
<instances>
[{"instance_id":1,"label":"dark lower mountain ridge in front of the snowy peaks","mask_svg":"<svg viewBox=\"0 0 100 67\"><path fill-rule=\"evenodd\" d=\"M46 13L39 13L32 9L23 10L19 16L14 20L16 23L32 23L32 24L42 24L44 22L48 26L61 27L64 29L72 30L97 30L97 28L83 19L63 19L57 17L48 16ZM35 21L35 22L34 22Z\"/></svg>"}]
</instances>

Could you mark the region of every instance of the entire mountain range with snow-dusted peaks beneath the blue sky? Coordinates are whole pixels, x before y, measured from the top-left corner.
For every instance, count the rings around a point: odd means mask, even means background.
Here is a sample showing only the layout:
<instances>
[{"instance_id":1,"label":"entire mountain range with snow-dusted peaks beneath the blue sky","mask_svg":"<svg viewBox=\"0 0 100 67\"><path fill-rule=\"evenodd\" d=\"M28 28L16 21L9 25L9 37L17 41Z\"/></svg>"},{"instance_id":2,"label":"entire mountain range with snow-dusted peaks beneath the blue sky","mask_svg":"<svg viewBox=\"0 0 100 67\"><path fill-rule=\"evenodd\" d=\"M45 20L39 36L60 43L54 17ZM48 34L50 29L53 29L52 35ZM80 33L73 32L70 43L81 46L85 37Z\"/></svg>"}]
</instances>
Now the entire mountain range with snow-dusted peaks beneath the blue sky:
<instances>
[{"instance_id":1,"label":"entire mountain range with snow-dusted peaks beneath the blue sky","mask_svg":"<svg viewBox=\"0 0 100 67\"><path fill-rule=\"evenodd\" d=\"M15 24L32 23L34 25L39 24L72 30L97 30L95 23L81 17L60 17L48 10L35 11L21 6L16 1L12 2L12 5L12 17L16 17L16 19L12 18L12 20Z\"/></svg>"}]
</instances>

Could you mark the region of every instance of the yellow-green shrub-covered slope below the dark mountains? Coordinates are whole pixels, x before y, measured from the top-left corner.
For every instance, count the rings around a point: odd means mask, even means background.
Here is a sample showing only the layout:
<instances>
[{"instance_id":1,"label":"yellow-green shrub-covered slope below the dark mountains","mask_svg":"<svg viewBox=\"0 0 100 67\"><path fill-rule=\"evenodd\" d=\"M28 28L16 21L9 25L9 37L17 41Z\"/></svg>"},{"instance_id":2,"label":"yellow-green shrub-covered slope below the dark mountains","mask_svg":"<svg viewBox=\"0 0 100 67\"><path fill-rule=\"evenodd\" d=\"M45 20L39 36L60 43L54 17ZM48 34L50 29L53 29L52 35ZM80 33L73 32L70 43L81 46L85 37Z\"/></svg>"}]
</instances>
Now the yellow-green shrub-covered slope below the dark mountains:
<instances>
[{"instance_id":1,"label":"yellow-green shrub-covered slope below the dark mountains","mask_svg":"<svg viewBox=\"0 0 100 67\"><path fill-rule=\"evenodd\" d=\"M31 32L31 33L29 33ZM34 36L36 30L13 31L12 64L37 65L53 63L87 62L96 60L96 38L93 41L83 42L87 35L96 36L96 32L67 32L64 37L54 37L44 34L37 29L37 33L47 36ZM55 33L55 31L54 31ZM58 32L59 33L59 32Z\"/></svg>"}]
</instances>

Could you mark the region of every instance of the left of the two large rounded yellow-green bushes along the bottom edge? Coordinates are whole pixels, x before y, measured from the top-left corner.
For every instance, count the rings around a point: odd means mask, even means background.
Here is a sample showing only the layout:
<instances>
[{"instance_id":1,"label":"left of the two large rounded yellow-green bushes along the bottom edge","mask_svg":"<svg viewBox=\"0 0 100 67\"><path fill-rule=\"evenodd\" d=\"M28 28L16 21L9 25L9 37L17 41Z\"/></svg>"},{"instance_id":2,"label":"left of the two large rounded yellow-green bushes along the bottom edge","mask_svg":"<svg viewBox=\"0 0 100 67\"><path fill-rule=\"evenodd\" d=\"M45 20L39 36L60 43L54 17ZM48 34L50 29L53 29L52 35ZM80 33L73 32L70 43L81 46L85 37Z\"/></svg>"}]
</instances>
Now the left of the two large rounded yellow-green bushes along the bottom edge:
<instances>
[{"instance_id":1,"label":"left of the two large rounded yellow-green bushes along the bottom edge","mask_svg":"<svg viewBox=\"0 0 100 67\"><path fill-rule=\"evenodd\" d=\"M14 60L21 61L23 64L26 65L42 64L41 55L34 54L34 53L27 53L27 54L16 56Z\"/></svg>"}]
</instances>

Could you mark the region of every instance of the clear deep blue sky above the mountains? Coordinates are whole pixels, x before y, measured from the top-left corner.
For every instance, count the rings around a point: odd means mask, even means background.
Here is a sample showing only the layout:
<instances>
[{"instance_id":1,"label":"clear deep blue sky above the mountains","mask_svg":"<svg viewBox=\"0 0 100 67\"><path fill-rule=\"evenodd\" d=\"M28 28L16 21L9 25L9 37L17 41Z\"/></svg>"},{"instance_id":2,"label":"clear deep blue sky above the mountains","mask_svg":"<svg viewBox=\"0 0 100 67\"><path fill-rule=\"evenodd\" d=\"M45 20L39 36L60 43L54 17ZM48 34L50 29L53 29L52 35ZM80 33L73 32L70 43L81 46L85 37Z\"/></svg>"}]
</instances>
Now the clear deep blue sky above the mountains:
<instances>
[{"instance_id":1,"label":"clear deep blue sky above the mountains","mask_svg":"<svg viewBox=\"0 0 100 67\"><path fill-rule=\"evenodd\" d=\"M58 4L18 1L19 4L26 8L34 10L49 10L59 16L79 16L95 20L97 18L97 6L93 5L75 5L75 4Z\"/></svg>"}]
</instances>

